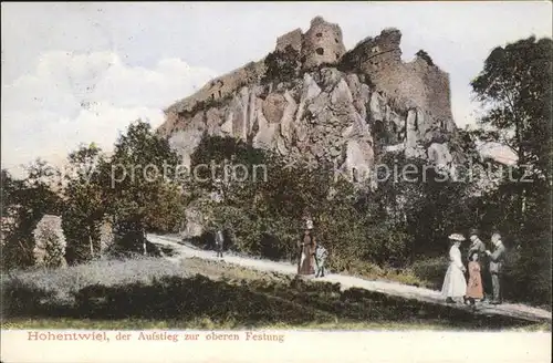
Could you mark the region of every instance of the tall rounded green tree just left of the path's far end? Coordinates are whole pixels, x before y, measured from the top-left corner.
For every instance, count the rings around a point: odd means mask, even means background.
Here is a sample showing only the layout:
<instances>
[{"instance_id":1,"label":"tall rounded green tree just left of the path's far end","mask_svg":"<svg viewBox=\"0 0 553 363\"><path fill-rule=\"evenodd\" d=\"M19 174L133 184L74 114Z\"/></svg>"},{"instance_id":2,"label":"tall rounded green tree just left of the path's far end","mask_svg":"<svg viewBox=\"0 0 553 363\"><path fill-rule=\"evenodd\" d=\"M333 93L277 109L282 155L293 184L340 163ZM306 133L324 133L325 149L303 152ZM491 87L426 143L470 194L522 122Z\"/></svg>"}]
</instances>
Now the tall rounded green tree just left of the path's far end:
<instances>
[{"instance_id":1,"label":"tall rounded green tree just left of the path's far end","mask_svg":"<svg viewBox=\"0 0 553 363\"><path fill-rule=\"evenodd\" d=\"M128 126L109 162L100 165L100 183L108 190L107 212L115 219L119 238L128 239L128 248L142 245L146 255L146 230L173 231L179 225L179 165L167 139L155 135L143 121Z\"/></svg>"}]
</instances>

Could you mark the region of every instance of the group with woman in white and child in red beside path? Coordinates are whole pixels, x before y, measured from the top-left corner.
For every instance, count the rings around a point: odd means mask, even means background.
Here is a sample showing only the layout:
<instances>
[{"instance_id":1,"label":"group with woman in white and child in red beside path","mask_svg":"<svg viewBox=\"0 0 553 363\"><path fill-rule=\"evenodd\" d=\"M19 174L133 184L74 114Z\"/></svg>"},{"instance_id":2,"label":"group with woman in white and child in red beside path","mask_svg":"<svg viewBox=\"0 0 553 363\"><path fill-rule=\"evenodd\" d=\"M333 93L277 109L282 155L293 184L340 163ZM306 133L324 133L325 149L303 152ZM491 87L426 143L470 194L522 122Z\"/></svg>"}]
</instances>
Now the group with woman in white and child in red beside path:
<instances>
[{"instance_id":1,"label":"group with woman in white and child in red beside path","mask_svg":"<svg viewBox=\"0 0 553 363\"><path fill-rule=\"evenodd\" d=\"M493 252L486 248L486 243L479 238L477 229L469 234L471 245L467 252L467 267L462 261L460 246L467 239L461 234L449 236L451 247L449 249L449 267L444 279L441 294L448 303L465 302L476 305L477 301L500 304L501 299L501 274L505 247L501 235L492 234L491 243ZM468 279L466 273L468 272Z\"/></svg>"}]
</instances>

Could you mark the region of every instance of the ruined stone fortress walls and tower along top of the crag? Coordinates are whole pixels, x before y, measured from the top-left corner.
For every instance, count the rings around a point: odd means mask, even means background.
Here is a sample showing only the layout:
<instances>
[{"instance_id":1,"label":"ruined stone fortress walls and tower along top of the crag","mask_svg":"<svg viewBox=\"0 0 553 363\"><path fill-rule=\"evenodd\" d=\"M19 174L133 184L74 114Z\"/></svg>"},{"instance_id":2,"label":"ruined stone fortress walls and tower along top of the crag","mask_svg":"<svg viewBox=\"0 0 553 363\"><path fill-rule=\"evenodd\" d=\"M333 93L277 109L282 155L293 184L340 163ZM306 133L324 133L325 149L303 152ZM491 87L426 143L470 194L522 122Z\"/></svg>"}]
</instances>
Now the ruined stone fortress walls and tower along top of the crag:
<instances>
[{"instance_id":1,"label":"ruined stone fortress walls and tower along top of the crag","mask_svg":"<svg viewBox=\"0 0 553 363\"><path fill-rule=\"evenodd\" d=\"M401 32L388 28L375 38L361 41L346 53L340 27L317 17L311 21L305 34L295 29L278 38L275 50L284 50L289 45L299 50L305 69L340 61L344 72L368 75L377 91L394 101L398 112L407 115L409 108L418 107L427 115L426 126L453 131L449 75L421 58L404 63L400 41ZM167 108L164 127L174 127L170 125L176 123L175 115L192 111L198 102L217 101L236 93L243 85L259 83L264 72L264 60L260 60L213 79L194 95Z\"/></svg>"}]
</instances>

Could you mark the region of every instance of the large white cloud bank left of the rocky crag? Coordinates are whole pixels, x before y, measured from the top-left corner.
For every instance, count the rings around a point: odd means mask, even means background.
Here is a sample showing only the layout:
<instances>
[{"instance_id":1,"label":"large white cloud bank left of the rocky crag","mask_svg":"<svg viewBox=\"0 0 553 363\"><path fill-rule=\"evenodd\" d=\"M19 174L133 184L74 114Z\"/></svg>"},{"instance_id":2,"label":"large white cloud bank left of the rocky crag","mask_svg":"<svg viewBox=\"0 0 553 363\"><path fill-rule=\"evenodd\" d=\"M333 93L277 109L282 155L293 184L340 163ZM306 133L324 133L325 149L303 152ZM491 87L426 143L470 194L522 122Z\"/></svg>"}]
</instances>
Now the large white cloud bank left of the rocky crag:
<instances>
[{"instance_id":1,"label":"large white cloud bank left of the rocky crag","mask_svg":"<svg viewBox=\"0 0 553 363\"><path fill-rule=\"evenodd\" d=\"M55 163L91 142L108 151L131 122L159 126L164 108L215 75L178 59L146 69L113 52L43 53L34 72L2 85L2 162Z\"/></svg>"}]
</instances>

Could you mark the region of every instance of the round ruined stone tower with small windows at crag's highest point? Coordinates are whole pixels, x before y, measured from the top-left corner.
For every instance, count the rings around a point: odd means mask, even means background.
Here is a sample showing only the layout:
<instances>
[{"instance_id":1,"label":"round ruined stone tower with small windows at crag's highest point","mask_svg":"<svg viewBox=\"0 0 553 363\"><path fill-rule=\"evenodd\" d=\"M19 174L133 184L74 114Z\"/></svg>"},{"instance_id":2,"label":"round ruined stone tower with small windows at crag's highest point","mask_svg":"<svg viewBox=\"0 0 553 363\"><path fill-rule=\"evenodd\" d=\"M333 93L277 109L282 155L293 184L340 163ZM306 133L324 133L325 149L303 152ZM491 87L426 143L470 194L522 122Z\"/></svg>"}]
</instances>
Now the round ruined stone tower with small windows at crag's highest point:
<instances>
[{"instance_id":1,"label":"round ruined stone tower with small windows at crag's highest point","mask_svg":"<svg viewBox=\"0 0 553 363\"><path fill-rule=\"evenodd\" d=\"M316 17L303 35L302 63L304 69L323 63L336 63L345 53L342 29Z\"/></svg>"}]
</instances>

